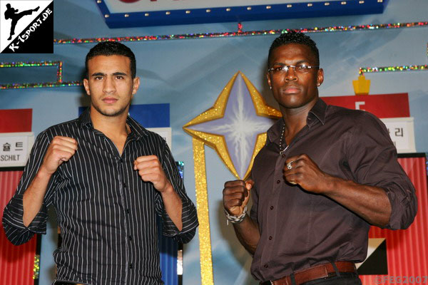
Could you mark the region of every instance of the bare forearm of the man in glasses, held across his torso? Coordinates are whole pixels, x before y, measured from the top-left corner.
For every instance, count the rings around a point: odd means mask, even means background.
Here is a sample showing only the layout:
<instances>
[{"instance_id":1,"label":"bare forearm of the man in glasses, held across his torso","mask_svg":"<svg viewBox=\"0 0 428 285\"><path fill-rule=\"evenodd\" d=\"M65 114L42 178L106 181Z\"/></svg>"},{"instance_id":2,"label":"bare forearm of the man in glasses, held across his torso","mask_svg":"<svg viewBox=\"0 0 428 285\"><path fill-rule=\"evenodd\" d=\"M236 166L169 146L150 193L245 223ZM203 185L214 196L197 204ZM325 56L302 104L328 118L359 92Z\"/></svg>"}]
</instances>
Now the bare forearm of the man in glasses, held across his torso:
<instances>
[{"instance_id":1,"label":"bare forearm of the man in glasses, held across his torso","mask_svg":"<svg viewBox=\"0 0 428 285\"><path fill-rule=\"evenodd\" d=\"M391 217L391 204L380 187L360 185L330 176L323 194L355 212L368 223L384 227Z\"/></svg>"}]
</instances>

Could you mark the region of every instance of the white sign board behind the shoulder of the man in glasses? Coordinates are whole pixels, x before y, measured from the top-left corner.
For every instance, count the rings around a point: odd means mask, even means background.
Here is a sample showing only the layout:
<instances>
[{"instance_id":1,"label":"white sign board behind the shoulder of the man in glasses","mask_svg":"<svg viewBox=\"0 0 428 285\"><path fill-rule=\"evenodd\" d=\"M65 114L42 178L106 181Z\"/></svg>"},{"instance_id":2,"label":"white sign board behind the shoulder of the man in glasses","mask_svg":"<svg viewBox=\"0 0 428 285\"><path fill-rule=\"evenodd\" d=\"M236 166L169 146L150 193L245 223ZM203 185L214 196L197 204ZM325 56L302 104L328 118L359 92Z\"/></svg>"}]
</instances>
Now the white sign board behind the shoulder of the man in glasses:
<instances>
[{"instance_id":1,"label":"white sign board behind the shoulder of the man in glasses","mask_svg":"<svg viewBox=\"0 0 428 285\"><path fill-rule=\"evenodd\" d=\"M398 153L416 152L413 118L383 118Z\"/></svg>"}]
</instances>

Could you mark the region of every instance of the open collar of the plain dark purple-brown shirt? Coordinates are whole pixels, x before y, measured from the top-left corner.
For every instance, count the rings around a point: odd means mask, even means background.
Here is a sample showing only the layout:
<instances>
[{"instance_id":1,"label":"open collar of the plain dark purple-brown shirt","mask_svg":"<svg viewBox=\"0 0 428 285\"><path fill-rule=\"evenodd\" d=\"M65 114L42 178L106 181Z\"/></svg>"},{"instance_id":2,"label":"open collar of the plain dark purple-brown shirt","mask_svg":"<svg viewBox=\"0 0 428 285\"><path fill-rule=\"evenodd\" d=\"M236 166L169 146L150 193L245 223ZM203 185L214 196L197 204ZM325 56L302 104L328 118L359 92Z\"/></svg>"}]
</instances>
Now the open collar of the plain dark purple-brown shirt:
<instances>
[{"instance_id":1,"label":"open collar of the plain dark purple-brown shirt","mask_svg":"<svg viewBox=\"0 0 428 285\"><path fill-rule=\"evenodd\" d=\"M309 128L312 127L312 125L315 125L317 123L317 120L322 123L322 125L325 124L325 113L327 112L327 104L318 98L317 103L310 109L309 113L307 114L307 126ZM270 142L274 142L275 140L280 140L280 135L282 131L282 127L284 126L284 120L283 118L280 118L280 120L277 120L272 127L267 130L267 139Z\"/></svg>"}]
</instances>

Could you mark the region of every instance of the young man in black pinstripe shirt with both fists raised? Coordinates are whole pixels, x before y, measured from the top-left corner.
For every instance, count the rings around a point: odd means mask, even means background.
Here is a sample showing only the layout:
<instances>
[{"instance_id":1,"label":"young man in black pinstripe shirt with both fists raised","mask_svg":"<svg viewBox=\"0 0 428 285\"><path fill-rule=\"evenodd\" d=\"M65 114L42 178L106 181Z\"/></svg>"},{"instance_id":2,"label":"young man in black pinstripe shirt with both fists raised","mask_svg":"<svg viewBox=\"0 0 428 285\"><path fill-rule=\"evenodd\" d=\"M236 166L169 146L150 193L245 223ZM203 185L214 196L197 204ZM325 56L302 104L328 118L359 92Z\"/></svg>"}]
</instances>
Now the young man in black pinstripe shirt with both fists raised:
<instances>
[{"instance_id":1,"label":"young man in black pinstripe shirt with both fists raised","mask_svg":"<svg viewBox=\"0 0 428 285\"><path fill-rule=\"evenodd\" d=\"M165 140L128 117L140 84L131 49L98 43L86 71L91 108L39 134L4 209L6 235L23 244L44 234L53 205L63 237L55 284L163 284L156 214L163 234L189 242L195 206Z\"/></svg>"}]
</instances>

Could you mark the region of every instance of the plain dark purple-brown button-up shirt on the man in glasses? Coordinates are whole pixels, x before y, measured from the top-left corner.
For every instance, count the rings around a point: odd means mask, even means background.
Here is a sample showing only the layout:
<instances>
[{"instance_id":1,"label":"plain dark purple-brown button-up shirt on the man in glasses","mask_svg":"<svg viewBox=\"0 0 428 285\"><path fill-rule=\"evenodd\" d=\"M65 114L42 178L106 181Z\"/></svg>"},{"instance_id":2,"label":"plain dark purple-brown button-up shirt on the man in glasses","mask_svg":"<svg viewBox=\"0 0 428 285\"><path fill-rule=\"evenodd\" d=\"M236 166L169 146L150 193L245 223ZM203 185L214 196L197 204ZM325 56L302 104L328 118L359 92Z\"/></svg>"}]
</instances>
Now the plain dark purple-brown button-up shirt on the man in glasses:
<instances>
[{"instance_id":1,"label":"plain dark purple-brown button-up shirt on the man in glasses","mask_svg":"<svg viewBox=\"0 0 428 285\"><path fill-rule=\"evenodd\" d=\"M413 222L414 186L378 118L318 100L307 125L280 155L283 124L280 119L267 131L266 145L253 166L250 216L260 229L251 265L255 279L280 279L316 264L358 262L367 255L370 224L324 195L287 184L282 173L287 157L305 153L330 175L382 187L392 206L387 228L404 229Z\"/></svg>"}]
</instances>

